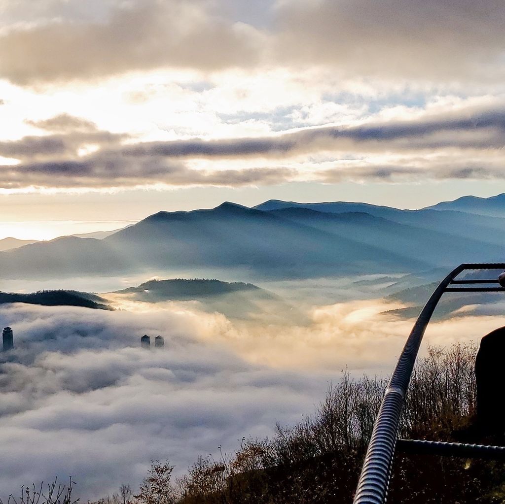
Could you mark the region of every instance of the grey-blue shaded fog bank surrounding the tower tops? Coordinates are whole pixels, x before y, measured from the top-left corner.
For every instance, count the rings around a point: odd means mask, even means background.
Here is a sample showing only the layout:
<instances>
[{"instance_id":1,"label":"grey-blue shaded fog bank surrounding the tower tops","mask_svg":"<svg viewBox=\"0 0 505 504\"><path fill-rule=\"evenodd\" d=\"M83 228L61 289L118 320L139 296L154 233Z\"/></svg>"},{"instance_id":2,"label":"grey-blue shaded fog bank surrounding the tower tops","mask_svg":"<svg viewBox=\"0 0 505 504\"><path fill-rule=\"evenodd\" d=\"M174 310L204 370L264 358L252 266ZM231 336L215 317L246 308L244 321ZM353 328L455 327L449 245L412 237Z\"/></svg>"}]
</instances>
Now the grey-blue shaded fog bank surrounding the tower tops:
<instances>
[{"instance_id":1,"label":"grey-blue shaded fog bank surrounding the tower tops","mask_svg":"<svg viewBox=\"0 0 505 504\"><path fill-rule=\"evenodd\" d=\"M55 474L98 497L136 485L156 458L183 472L220 444L298 420L324 395L321 375L253 365L214 343L230 330L220 315L13 305L2 324L16 345L0 374L3 498ZM141 349L144 333L163 334L165 347Z\"/></svg>"}]
</instances>

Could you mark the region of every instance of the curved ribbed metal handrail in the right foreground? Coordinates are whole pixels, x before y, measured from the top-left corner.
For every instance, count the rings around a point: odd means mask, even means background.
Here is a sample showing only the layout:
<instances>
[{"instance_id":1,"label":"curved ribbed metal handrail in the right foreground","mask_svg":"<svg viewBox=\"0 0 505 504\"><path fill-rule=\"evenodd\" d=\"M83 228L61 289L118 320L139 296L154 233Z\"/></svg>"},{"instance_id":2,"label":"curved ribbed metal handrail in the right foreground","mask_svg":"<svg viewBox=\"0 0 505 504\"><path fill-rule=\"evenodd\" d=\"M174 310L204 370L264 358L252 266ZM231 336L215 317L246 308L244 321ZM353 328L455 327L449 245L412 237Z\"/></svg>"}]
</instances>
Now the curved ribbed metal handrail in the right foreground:
<instances>
[{"instance_id":1,"label":"curved ribbed metal handrail in the right foreground","mask_svg":"<svg viewBox=\"0 0 505 504\"><path fill-rule=\"evenodd\" d=\"M448 285L466 269L505 269L505 263L460 264L440 282L421 310L405 347L403 347L398 358L384 398L382 399L379 413L375 419L372 436L353 501L354 504L384 504L386 501L396 439L398 437L401 409L405 402L407 388L424 331ZM476 289L467 290L475 291Z\"/></svg>"}]
</instances>

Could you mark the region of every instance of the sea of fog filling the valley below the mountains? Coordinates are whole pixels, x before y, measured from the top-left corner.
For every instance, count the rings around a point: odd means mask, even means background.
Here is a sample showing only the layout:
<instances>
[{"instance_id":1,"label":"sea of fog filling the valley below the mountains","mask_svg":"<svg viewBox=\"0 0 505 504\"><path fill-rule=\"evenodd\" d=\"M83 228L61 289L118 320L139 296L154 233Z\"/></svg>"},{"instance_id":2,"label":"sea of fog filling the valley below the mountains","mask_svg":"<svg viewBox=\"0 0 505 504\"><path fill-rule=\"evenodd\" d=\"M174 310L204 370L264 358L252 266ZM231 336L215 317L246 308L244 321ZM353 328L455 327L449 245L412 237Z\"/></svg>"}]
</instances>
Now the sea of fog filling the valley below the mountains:
<instances>
[{"instance_id":1,"label":"sea of fog filling the valley below the mountains","mask_svg":"<svg viewBox=\"0 0 505 504\"><path fill-rule=\"evenodd\" d=\"M137 487L153 459L182 474L199 455L219 456L218 446L231 453L243 436L310 415L346 366L388 374L413 319L387 313L405 305L362 280L262 285L285 302L280 317L120 295L108 297L115 311L2 305L15 350L0 368L0 497L58 475L72 476L81 499L97 498ZM324 295L311 296L318 286ZM502 308L434 320L422 352L477 341L503 325ZM140 348L143 334L161 334L165 346Z\"/></svg>"}]
</instances>

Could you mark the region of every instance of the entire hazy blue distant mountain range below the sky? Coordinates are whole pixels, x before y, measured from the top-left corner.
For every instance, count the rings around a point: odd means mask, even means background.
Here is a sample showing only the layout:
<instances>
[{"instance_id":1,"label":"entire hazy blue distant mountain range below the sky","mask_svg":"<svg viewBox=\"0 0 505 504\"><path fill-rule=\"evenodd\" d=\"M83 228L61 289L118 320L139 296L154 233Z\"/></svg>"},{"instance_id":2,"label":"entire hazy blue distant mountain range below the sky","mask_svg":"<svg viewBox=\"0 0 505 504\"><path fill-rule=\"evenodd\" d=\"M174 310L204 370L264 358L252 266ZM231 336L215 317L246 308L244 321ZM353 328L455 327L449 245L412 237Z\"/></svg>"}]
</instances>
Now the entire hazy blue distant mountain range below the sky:
<instances>
[{"instance_id":1,"label":"entire hazy blue distant mountain range below the sky","mask_svg":"<svg viewBox=\"0 0 505 504\"><path fill-rule=\"evenodd\" d=\"M103 239L63 237L0 252L0 271L4 278L40 278L212 267L289 278L502 261L503 202L505 195L468 197L421 210L225 202L209 210L159 212Z\"/></svg>"}]
</instances>

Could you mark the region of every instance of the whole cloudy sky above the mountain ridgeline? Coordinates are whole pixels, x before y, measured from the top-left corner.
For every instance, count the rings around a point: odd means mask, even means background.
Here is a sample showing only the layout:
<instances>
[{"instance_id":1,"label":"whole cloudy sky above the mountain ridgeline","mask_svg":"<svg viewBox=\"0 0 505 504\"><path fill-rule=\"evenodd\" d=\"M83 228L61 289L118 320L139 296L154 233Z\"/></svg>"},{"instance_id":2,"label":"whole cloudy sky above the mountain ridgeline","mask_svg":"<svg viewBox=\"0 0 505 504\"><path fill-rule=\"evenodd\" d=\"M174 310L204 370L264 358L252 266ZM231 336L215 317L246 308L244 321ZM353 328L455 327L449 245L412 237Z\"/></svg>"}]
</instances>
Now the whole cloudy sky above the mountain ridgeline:
<instances>
[{"instance_id":1,"label":"whole cloudy sky above the mountain ridgeline","mask_svg":"<svg viewBox=\"0 0 505 504\"><path fill-rule=\"evenodd\" d=\"M0 0L0 238L503 191L499 0Z\"/></svg>"}]
</instances>

